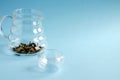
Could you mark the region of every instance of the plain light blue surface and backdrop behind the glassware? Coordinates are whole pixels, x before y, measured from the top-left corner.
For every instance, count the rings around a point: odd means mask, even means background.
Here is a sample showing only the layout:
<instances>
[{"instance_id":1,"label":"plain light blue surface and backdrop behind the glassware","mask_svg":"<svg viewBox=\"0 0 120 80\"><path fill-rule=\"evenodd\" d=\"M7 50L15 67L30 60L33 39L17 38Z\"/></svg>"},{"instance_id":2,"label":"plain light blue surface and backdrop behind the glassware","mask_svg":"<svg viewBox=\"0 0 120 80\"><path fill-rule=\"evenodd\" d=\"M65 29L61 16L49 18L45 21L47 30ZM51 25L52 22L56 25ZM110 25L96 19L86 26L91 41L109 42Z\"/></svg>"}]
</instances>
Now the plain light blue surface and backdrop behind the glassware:
<instances>
[{"instance_id":1,"label":"plain light blue surface and backdrop behind the glassware","mask_svg":"<svg viewBox=\"0 0 120 80\"><path fill-rule=\"evenodd\" d=\"M119 0L0 0L0 18L16 8L43 11L48 48L65 63L61 73L31 71L37 57L8 56L0 37L0 80L120 80Z\"/></svg>"}]
</instances>

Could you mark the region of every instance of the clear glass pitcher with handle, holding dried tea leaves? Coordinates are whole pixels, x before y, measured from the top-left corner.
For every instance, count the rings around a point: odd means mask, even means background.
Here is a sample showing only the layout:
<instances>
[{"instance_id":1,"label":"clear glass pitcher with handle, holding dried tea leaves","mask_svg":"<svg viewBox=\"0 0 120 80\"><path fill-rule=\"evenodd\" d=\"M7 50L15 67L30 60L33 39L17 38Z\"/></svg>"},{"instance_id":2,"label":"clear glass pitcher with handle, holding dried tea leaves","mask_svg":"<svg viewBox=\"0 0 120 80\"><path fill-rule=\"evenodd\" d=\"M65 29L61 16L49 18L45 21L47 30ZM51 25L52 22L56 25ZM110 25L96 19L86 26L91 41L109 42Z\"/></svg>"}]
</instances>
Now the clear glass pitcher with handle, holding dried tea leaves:
<instances>
[{"instance_id":1,"label":"clear glass pitcher with handle, holding dried tea leaves","mask_svg":"<svg viewBox=\"0 0 120 80\"><path fill-rule=\"evenodd\" d=\"M2 29L4 19L11 18L10 34ZM0 34L9 40L10 49L17 55L33 55L46 49L41 12L34 9L16 9L12 16L5 15L0 21ZM7 29L7 28L6 28Z\"/></svg>"}]
</instances>

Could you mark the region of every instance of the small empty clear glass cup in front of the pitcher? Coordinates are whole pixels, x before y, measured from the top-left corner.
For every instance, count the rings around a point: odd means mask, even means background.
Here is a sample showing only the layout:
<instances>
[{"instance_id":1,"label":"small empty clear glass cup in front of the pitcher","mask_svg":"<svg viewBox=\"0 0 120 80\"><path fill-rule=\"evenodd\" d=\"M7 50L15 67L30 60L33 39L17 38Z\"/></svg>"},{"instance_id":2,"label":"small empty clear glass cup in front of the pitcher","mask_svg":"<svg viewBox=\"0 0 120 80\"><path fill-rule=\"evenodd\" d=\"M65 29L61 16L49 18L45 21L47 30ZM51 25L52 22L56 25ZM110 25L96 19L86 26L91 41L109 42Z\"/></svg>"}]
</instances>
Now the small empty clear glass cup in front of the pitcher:
<instances>
[{"instance_id":1,"label":"small empty clear glass cup in front of the pitcher","mask_svg":"<svg viewBox=\"0 0 120 80\"><path fill-rule=\"evenodd\" d=\"M63 62L64 56L55 49L47 49L38 54L38 67L42 72L61 71Z\"/></svg>"}]
</instances>

